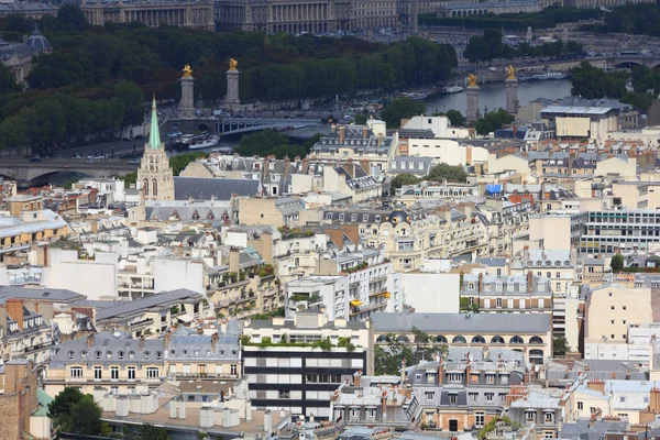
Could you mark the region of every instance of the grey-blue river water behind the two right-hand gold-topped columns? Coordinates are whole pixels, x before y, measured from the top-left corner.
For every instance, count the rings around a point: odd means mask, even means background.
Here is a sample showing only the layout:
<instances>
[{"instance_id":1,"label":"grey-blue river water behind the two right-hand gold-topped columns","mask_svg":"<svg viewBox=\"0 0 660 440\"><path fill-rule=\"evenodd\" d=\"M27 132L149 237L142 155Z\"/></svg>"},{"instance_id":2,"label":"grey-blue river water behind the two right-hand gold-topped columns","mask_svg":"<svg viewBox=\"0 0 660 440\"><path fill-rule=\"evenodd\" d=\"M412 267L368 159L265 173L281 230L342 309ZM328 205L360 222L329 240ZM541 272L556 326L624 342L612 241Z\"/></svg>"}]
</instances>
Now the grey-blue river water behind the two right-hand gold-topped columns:
<instances>
[{"instance_id":1,"label":"grey-blue river water behind the two right-hand gold-topped columns","mask_svg":"<svg viewBox=\"0 0 660 440\"><path fill-rule=\"evenodd\" d=\"M460 84L460 81L459 81ZM506 89L504 82L490 82L480 85L479 106L481 113L484 108L488 111L506 107ZM561 99L571 95L571 81L568 79L546 81L522 81L518 84L518 102L520 106L528 105L537 98ZM448 110L459 110L465 114L465 92L452 95L437 95L425 99L429 113Z\"/></svg>"}]
</instances>

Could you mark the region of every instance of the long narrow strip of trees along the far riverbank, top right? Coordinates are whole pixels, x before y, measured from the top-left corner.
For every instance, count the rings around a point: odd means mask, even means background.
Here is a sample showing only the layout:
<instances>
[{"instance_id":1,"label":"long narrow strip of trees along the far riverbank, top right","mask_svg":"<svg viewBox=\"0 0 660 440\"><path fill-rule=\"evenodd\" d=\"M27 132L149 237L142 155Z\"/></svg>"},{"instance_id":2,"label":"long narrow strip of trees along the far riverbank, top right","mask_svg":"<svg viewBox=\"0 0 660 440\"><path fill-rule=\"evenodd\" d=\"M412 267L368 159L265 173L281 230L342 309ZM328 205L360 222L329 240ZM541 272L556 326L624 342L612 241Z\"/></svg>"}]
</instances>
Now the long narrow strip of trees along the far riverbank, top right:
<instances>
[{"instance_id":1,"label":"long narrow strip of trees along the far riverbank, top right","mask_svg":"<svg viewBox=\"0 0 660 440\"><path fill-rule=\"evenodd\" d=\"M469 29L504 28L514 31L525 31L529 26L532 29L548 29L554 28L558 23L597 19L601 15L602 12L596 9L550 7L543 9L541 12L519 12L499 15L490 13L485 15L440 18L429 14L421 15L419 24Z\"/></svg>"}]
</instances>

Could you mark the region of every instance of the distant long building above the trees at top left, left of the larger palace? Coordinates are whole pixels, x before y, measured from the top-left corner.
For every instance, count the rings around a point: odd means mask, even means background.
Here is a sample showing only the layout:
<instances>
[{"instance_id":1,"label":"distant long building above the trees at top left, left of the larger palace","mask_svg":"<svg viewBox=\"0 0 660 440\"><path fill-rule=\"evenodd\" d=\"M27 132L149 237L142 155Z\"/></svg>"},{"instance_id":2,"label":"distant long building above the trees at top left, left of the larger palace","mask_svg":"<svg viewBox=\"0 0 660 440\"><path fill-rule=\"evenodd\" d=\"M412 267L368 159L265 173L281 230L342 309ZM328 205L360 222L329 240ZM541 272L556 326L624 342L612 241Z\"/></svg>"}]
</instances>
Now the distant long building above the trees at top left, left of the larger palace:
<instances>
[{"instance_id":1,"label":"distant long building above the trees at top left, left of the larger palace","mask_svg":"<svg viewBox=\"0 0 660 440\"><path fill-rule=\"evenodd\" d=\"M80 4L89 24L130 23L139 21L147 26L170 26L215 30L213 3L208 0L185 1L87 1Z\"/></svg>"}]
</instances>

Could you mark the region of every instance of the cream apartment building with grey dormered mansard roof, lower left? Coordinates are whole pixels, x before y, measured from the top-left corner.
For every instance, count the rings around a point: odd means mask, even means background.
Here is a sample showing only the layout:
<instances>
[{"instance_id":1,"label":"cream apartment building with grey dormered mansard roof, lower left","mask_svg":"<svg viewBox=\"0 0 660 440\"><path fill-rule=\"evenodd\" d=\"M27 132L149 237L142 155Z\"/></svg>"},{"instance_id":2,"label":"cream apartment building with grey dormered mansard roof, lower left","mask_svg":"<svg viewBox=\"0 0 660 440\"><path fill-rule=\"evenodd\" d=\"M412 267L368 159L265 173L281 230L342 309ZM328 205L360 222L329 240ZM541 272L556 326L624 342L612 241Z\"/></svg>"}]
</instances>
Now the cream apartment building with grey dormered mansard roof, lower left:
<instances>
[{"instance_id":1,"label":"cream apartment building with grey dormered mansard roof, lower left","mask_svg":"<svg viewBox=\"0 0 660 440\"><path fill-rule=\"evenodd\" d=\"M141 394L161 385L165 377L162 340L130 338L129 333L92 333L56 345L42 380L55 396L65 387L92 394Z\"/></svg>"}]
</instances>

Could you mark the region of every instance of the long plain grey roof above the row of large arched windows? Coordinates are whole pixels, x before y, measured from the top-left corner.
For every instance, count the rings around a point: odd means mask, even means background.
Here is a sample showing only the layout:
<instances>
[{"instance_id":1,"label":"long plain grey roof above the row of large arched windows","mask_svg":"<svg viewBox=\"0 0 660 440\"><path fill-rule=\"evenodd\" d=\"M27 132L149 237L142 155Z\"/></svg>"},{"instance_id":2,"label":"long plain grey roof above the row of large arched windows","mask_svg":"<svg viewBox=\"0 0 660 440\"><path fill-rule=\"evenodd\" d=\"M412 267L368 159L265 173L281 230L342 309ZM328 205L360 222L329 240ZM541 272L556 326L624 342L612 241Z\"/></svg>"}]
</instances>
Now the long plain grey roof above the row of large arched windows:
<instances>
[{"instance_id":1,"label":"long plain grey roof above the row of large arched windows","mask_svg":"<svg viewBox=\"0 0 660 440\"><path fill-rule=\"evenodd\" d=\"M413 327L431 333L546 333L552 329L547 314L413 314L372 316L374 331L410 332Z\"/></svg>"}]
</instances>

